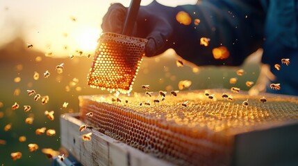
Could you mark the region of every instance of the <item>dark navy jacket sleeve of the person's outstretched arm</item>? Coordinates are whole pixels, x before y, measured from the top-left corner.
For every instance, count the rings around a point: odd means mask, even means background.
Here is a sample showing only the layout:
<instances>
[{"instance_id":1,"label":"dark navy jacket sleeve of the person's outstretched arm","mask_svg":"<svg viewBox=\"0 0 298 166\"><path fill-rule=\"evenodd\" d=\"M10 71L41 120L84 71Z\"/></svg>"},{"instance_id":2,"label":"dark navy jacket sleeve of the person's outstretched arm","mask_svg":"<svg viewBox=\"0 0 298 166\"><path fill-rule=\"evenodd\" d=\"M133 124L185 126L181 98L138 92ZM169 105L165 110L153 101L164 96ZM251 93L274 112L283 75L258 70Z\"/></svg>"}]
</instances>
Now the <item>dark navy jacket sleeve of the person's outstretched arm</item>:
<instances>
[{"instance_id":1,"label":"dark navy jacket sleeve of the person's outstretched arm","mask_svg":"<svg viewBox=\"0 0 298 166\"><path fill-rule=\"evenodd\" d=\"M180 43L173 47L194 64L238 66L262 46L265 13L259 1L208 0L177 6L179 11L187 12L192 23L175 25L174 31L181 35L174 39ZM199 24L194 24L194 19L199 19ZM201 37L210 39L208 46L200 44ZM213 48L220 46L229 51L226 59L213 57Z\"/></svg>"}]
</instances>

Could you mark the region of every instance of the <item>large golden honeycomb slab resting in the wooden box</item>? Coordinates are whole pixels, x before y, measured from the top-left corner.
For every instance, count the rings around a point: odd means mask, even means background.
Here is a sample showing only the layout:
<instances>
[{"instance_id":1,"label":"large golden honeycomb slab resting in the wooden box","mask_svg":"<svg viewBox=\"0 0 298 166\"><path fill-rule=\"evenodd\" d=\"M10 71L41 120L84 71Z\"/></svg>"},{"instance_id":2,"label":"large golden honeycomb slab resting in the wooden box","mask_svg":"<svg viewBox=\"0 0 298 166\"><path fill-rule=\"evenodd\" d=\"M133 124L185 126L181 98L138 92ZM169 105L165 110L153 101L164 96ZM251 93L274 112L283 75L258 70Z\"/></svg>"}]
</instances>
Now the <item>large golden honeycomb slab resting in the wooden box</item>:
<instances>
[{"instance_id":1,"label":"large golden honeycomb slab resting in the wooden box","mask_svg":"<svg viewBox=\"0 0 298 166\"><path fill-rule=\"evenodd\" d=\"M158 92L80 96L81 119L101 133L176 165L228 165L238 133L298 120L297 98L210 90L181 91L177 96ZM222 95L233 96L233 100ZM159 100L160 102L154 102ZM113 102L114 101L114 102ZM243 101L249 104L243 105ZM149 102L150 105L145 105ZM187 107L183 106L185 102ZM140 103L143 103L140 105ZM93 116L85 116L92 112Z\"/></svg>"}]
</instances>

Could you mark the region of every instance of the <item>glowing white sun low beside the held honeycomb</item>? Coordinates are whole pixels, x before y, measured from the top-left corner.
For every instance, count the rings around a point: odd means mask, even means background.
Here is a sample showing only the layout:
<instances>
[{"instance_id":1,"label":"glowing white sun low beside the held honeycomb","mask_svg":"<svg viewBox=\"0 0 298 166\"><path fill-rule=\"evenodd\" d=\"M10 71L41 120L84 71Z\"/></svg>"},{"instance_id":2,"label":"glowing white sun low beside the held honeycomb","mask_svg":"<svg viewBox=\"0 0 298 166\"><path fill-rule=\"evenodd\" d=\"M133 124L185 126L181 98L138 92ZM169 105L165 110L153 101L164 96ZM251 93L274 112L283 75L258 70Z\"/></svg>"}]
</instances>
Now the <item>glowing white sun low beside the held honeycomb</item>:
<instances>
[{"instance_id":1,"label":"glowing white sun low beside the held honeycomb","mask_svg":"<svg viewBox=\"0 0 298 166\"><path fill-rule=\"evenodd\" d=\"M97 46L97 39L99 38L99 30L97 28L81 28L76 33L75 42L79 49L84 52L92 52Z\"/></svg>"}]
</instances>

